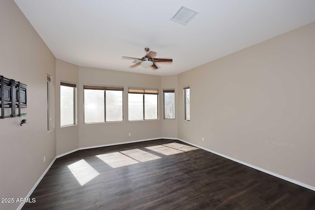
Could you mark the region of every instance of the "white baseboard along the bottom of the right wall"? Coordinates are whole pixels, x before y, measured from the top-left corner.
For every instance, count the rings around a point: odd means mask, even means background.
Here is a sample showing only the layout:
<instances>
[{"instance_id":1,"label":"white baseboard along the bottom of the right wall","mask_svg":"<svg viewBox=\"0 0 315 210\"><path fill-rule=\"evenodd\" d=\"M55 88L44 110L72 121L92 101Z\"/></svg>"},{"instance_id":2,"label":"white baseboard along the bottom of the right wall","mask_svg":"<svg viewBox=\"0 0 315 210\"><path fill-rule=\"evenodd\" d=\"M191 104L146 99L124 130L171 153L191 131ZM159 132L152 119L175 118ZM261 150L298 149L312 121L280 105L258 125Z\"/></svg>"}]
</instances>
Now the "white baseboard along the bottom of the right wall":
<instances>
[{"instance_id":1,"label":"white baseboard along the bottom of the right wall","mask_svg":"<svg viewBox=\"0 0 315 210\"><path fill-rule=\"evenodd\" d=\"M305 188L308 188L308 189L310 189L310 190L315 191L315 187L314 187L314 186L305 184L305 183L300 182L300 181L297 181L297 180L292 180L292 179L287 178L287 177L284 177L284 176L282 176L282 175L280 175L280 174L276 174L276 173L274 173L274 172L265 170L265 169L263 169L263 168L259 168L259 167L257 167L257 166L251 165L251 164L249 164L249 163L243 162L243 161L238 160L238 159L235 159L235 158L233 158L233 157L229 157L229 156L224 155L224 154L221 154L221 153L219 153L219 152L216 152L216 151L213 151L213 150L208 150L208 149L206 149L206 148L200 147L199 145L192 144L192 143L187 142L187 141L184 141L184 140L182 140L182 139L177 139L177 140L179 140L179 141L181 141L181 142L184 142L184 143L187 143L187 144L189 144L189 145L191 145L191 146L200 148L200 149L202 149L202 150L206 150L206 151L212 152L212 153L217 154L217 155L219 155L219 156L221 156L221 157L225 157L225 158L227 158L227 159L229 159L229 160L233 160L233 161L235 161L235 162L237 162L237 163L241 163L241 164L243 164L243 165L246 165L246 166L251 167L251 168L253 168L253 169L256 169L256 170L258 170L258 171L264 172L264 173L266 173L266 174L272 175L272 176L274 176L274 177L278 177L278 178L280 178L280 179L283 179L283 180L292 182L292 183L294 183L294 184L297 184L297 185L300 185L300 186L302 186L302 187L305 187Z\"/></svg>"}]
</instances>

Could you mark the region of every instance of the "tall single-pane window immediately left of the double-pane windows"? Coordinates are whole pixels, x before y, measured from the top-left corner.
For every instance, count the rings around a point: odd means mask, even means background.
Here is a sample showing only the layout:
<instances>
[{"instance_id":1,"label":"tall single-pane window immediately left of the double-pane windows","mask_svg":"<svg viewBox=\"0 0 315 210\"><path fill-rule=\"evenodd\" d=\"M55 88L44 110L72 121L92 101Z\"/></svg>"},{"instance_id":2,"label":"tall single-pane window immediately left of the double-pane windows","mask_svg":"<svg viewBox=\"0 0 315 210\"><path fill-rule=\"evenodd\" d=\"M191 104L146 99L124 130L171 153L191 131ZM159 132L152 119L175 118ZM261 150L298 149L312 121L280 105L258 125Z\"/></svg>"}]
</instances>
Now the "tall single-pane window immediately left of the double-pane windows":
<instances>
[{"instance_id":1,"label":"tall single-pane window immediately left of the double-pane windows","mask_svg":"<svg viewBox=\"0 0 315 210\"><path fill-rule=\"evenodd\" d=\"M60 126L75 124L76 84L60 83Z\"/></svg>"}]
</instances>

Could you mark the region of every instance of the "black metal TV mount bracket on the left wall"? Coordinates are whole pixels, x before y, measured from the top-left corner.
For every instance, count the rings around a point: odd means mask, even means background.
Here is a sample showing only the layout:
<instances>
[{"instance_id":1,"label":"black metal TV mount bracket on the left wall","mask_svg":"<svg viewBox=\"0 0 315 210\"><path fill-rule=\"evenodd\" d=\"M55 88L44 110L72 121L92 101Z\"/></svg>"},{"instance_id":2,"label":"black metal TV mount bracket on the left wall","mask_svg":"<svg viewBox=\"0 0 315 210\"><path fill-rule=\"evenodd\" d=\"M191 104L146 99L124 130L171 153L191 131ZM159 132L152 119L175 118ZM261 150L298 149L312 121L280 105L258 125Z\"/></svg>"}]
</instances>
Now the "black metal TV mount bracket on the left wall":
<instances>
[{"instance_id":1,"label":"black metal TV mount bracket on the left wall","mask_svg":"<svg viewBox=\"0 0 315 210\"><path fill-rule=\"evenodd\" d=\"M27 85L0 76L0 119L20 117L21 108L26 107Z\"/></svg>"}]
</instances>

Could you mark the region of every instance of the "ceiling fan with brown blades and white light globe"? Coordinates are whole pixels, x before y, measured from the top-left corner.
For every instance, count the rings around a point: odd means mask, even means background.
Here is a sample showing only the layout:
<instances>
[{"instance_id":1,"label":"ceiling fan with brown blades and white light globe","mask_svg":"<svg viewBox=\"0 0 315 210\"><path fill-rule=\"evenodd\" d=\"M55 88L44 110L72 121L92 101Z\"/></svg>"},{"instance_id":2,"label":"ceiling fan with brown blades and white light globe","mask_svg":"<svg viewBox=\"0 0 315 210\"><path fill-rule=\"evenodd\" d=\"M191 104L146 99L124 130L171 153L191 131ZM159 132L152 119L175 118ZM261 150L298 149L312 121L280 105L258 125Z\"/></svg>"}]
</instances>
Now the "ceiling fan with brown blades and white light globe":
<instances>
[{"instance_id":1,"label":"ceiling fan with brown blades and white light globe","mask_svg":"<svg viewBox=\"0 0 315 210\"><path fill-rule=\"evenodd\" d=\"M133 65L130 65L130 68L136 67L138 65L141 64L142 67L145 68L149 68L151 66L151 68L153 68L153 70L157 70L158 66L155 64L156 62L173 62L173 59L157 59L154 58L157 53L150 51L150 48L144 48L144 51L147 53L147 55L145 55L144 57L142 57L141 59L138 58L133 58L133 57L125 57L123 56L123 59L132 59L135 60L136 63Z\"/></svg>"}]
</instances>

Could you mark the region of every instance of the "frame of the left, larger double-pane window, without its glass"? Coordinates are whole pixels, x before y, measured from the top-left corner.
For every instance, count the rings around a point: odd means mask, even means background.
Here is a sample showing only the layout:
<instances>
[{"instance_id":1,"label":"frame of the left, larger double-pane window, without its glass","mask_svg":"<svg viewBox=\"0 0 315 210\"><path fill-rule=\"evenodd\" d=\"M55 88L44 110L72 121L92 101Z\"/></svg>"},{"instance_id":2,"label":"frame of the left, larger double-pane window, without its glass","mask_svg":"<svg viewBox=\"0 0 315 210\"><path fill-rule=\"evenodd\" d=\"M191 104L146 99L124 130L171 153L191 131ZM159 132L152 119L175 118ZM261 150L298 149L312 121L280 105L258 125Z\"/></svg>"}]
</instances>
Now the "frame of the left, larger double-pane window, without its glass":
<instances>
[{"instance_id":1,"label":"frame of the left, larger double-pane window, without its glass","mask_svg":"<svg viewBox=\"0 0 315 210\"><path fill-rule=\"evenodd\" d=\"M103 122L85 122L85 96L84 90L103 90L104 91L104 121ZM117 121L106 121L106 90L117 90L122 91L123 93L123 120ZM91 85L83 84L83 123L84 124L97 124L97 123L109 123L109 122L124 122L125 121L125 112L124 112L124 86L107 86L107 85Z\"/></svg>"}]
</instances>

